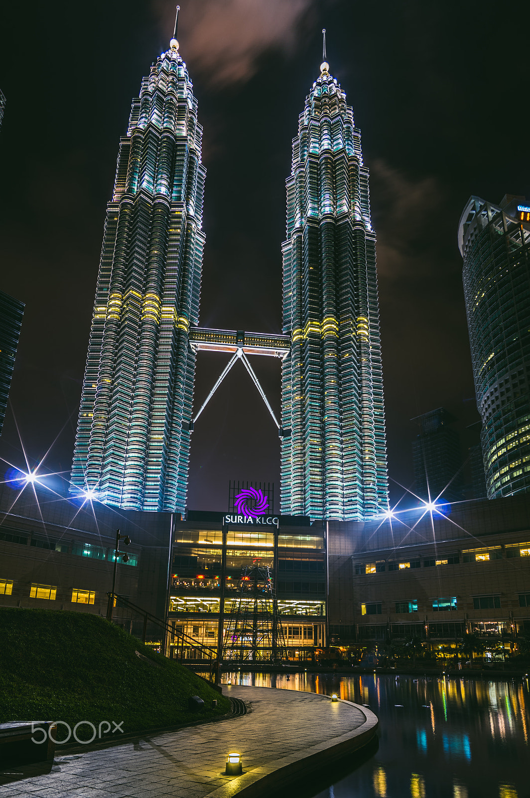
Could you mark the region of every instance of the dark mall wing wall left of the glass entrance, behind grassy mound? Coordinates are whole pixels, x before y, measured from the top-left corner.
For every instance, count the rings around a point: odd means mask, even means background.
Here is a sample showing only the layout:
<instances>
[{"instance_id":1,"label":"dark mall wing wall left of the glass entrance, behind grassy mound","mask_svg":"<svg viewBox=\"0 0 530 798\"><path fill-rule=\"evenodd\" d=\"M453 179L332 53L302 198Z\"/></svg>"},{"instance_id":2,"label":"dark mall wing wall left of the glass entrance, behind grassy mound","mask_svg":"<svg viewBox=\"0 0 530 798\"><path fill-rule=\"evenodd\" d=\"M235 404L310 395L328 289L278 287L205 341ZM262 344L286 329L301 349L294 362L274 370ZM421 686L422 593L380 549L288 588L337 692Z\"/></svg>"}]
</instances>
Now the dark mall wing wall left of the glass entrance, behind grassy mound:
<instances>
[{"instance_id":1,"label":"dark mall wing wall left of the glass entrance, behind grassy mound","mask_svg":"<svg viewBox=\"0 0 530 798\"><path fill-rule=\"evenodd\" d=\"M119 528L132 543L120 543L130 560L119 559L116 593L164 617L171 513L115 512L97 503L80 507L39 485L35 491L29 485L18 496L9 485L0 487L0 606L105 614ZM34 585L55 588L55 599L32 597ZM73 602L74 589L93 594L93 603ZM118 606L115 613L126 629L132 628L130 610Z\"/></svg>"}]
</instances>

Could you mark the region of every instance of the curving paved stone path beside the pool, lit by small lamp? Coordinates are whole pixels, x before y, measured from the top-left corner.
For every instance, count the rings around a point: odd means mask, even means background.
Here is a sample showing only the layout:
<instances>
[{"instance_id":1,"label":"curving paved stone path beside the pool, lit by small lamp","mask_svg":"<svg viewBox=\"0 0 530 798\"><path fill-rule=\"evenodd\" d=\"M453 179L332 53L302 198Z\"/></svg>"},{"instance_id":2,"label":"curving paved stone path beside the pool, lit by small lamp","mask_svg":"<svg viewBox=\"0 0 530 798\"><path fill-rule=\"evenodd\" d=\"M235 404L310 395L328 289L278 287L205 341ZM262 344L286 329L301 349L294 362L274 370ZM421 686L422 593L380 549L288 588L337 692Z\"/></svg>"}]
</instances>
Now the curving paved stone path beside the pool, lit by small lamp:
<instances>
[{"instance_id":1,"label":"curving paved stone path beside the pool, lit by small lamp","mask_svg":"<svg viewBox=\"0 0 530 798\"><path fill-rule=\"evenodd\" d=\"M224 775L230 751L241 753L244 773L258 768L257 780L281 760L290 764L366 723L355 706L315 693L240 685L225 685L223 693L249 703L251 712L85 753L61 755L57 746L51 773L5 784L0 798L234 795L241 782Z\"/></svg>"}]
</instances>

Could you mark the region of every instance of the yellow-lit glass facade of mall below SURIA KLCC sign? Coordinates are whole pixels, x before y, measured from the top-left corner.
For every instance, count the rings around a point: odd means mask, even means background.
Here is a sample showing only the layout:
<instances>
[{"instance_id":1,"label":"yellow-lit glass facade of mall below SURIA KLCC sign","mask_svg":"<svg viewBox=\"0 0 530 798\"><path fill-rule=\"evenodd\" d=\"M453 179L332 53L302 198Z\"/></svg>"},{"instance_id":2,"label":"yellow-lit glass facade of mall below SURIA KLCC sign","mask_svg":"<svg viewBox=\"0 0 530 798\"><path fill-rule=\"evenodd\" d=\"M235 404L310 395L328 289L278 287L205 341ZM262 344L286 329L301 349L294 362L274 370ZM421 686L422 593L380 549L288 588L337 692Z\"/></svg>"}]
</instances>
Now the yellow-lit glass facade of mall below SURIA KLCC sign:
<instances>
[{"instance_id":1,"label":"yellow-lit glass facade of mall below SURIA KLCC sign","mask_svg":"<svg viewBox=\"0 0 530 798\"><path fill-rule=\"evenodd\" d=\"M267 527L218 522L177 522L171 551L167 619L175 635L197 646L217 648L234 658L226 632L238 608L244 569L269 569L289 660L311 662L326 645L326 541L324 529ZM272 603L272 599L271 599ZM182 649L179 649L179 656ZM259 654L258 654L259 656ZM201 658L193 643L183 658Z\"/></svg>"}]
</instances>

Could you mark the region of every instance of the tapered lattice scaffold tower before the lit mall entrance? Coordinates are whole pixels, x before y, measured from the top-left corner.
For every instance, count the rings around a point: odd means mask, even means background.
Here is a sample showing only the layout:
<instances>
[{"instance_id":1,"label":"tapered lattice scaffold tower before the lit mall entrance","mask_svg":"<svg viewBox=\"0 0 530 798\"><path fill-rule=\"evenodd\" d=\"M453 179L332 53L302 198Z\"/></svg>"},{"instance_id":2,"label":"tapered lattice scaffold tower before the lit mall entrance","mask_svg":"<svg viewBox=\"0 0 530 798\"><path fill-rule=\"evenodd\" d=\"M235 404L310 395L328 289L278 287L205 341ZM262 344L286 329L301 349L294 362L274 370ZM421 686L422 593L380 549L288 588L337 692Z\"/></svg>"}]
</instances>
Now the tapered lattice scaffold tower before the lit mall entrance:
<instances>
[{"instance_id":1,"label":"tapered lattice scaffold tower before the lit mall entrance","mask_svg":"<svg viewBox=\"0 0 530 798\"><path fill-rule=\"evenodd\" d=\"M226 626L222 658L228 662L288 662L287 646L268 566L242 568Z\"/></svg>"}]
</instances>

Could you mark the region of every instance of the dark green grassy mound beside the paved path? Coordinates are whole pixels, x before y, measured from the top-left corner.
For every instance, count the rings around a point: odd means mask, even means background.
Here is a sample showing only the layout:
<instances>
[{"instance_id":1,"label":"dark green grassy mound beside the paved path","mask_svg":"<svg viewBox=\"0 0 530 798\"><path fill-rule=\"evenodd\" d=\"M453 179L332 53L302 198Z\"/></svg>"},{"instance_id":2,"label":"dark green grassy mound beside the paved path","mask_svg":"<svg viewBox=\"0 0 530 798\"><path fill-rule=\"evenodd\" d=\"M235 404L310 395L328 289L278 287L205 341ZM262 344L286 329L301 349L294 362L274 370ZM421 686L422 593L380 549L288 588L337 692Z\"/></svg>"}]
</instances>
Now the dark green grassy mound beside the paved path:
<instances>
[{"instance_id":1,"label":"dark green grassy mound beside the paved path","mask_svg":"<svg viewBox=\"0 0 530 798\"><path fill-rule=\"evenodd\" d=\"M0 722L124 721L130 733L230 712L190 670L97 615L5 607L0 641ZM205 703L200 712L188 709L192 695ZM90 737L89 727L81 734Z\"/></svg>"}]
</instances>

